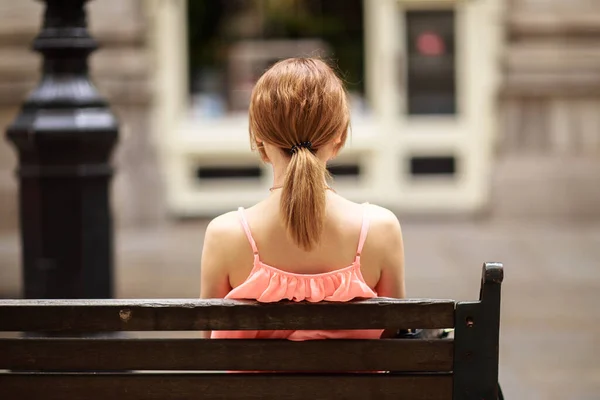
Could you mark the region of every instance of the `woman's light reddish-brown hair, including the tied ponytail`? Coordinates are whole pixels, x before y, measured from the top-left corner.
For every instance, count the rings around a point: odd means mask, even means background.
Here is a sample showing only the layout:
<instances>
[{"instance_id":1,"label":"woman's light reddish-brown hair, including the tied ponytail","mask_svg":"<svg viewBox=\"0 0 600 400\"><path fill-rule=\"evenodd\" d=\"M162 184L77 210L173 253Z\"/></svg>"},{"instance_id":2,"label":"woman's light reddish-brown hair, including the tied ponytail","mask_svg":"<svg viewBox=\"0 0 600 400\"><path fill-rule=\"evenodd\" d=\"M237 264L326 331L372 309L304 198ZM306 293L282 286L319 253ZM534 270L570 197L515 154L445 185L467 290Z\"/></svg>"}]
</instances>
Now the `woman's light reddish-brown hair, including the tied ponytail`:
<instances>
[{"instance_id":1,"label":"woman's light reddish-brown hair, including the tied ponytail","mask_svg":"<svg viewBox=\"0 0 600 400\"><path fill-rule=\"evenodd\" d=\"M350 113L344 84L315 58L280 61L258 80L250 102L250 140L277 146L291 157L280 213L292 240L306 250L318 244L325 217L326 167L315 155L340 138L344 145ZM298 147L310 142L312 147ZM266 157L263 149L261 155Z\"/></svg>"}]
</instances>

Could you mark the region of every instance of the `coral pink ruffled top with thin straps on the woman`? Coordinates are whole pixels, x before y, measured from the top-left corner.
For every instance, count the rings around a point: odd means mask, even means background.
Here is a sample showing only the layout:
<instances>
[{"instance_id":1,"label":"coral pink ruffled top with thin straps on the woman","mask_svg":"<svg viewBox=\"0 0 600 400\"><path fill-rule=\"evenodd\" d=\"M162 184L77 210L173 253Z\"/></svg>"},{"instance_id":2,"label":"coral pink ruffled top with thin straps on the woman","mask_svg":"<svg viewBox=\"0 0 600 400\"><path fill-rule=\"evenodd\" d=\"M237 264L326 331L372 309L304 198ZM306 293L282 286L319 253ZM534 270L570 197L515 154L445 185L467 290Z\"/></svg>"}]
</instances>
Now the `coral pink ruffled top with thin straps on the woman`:
<instances>
[{"instance_id":1,"label":"coral pink ruffled top with thin straps on the woman","mask_svg":"<svg viewBox=\"0 0 600 400\"><path fill-rule=\"evenodd\" d=\"M354 262L342 269L321 274L296 274L282 271L260 261L244 209L238 210L240 223L254 252L254 267L244 283L225 296L226 299L252 299L271 303L292 301L338 301L377 297L365 282L360 270L360 254L369 231L367 205L363 206L363 222ZM382 330L280 330L280 331L213 331L214 339L378 339Z\"/></svg>"}]
</instances>

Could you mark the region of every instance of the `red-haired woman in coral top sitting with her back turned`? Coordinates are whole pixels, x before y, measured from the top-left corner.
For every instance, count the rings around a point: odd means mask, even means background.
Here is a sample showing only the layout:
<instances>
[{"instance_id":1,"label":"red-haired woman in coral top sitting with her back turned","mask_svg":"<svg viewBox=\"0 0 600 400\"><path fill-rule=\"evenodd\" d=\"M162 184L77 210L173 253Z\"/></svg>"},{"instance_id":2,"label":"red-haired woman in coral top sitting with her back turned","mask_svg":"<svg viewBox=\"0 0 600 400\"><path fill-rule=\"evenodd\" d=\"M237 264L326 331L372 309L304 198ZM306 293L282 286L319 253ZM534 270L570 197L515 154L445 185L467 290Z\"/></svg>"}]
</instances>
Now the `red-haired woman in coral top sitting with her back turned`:
<instances>
[{"instance_id":1,"label":"red-haired woman in coral top sitting with her back turned","mask_svg":"<svg viewBox=\"0 0 600 400\"><path fill-rule=\"evenodd\" d=\"M342 81L323 61L278 62L257 82L250 140L273 168L266 198L215 218L202 255L203 298L349 301L404 292L404 250L390 211L327 184L349 129ZM213 332L216 338L376 338L381 331Z\"/></svg>"}]
</instances>

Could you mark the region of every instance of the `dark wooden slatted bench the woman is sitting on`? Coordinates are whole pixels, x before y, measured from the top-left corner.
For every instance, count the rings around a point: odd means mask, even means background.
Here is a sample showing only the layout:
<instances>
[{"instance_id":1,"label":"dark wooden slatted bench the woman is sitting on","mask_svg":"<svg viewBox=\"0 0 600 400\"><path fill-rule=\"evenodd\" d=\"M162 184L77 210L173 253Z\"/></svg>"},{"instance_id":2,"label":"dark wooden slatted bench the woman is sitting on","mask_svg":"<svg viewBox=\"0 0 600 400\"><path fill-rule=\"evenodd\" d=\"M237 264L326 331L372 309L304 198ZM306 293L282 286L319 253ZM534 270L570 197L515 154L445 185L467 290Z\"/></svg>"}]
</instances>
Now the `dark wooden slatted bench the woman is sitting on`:
<instances>
[{"instance_id":1,"label":"dark wooden slatted bench the woman is sitting on","mask_svg":"<svg viewBox=\"0 0 600 400\"><path fill-rule=\"evenodd\" d=\"M473 302L1 300L0 399L495 400L502 278L485 264ZM454 339L307 342L189 332L452 327ZM288 372L223 372L258 370Z\"/></svg>"}]
</instances>

